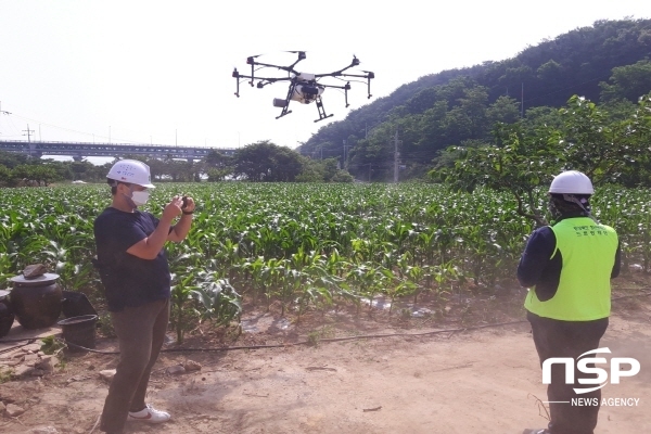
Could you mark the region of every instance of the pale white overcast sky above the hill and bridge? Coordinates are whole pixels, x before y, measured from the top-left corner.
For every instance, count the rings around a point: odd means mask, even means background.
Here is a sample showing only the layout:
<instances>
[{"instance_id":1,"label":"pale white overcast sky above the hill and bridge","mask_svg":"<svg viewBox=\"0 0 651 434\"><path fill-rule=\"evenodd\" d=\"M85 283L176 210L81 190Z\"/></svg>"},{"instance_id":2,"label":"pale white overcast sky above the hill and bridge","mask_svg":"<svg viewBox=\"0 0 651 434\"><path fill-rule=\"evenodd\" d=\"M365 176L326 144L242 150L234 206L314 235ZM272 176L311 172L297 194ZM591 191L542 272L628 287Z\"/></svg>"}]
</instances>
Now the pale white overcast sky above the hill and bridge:
<instances>
[{"instance_id":1,"label":"pale white overcast sky above the hill and bridge","mask_svg":"<svg viewBox=\"0 0 651 434\"><path fill-rule=\"evenodd\" d=\"M296 148L328 123L419 77L513 58L598 20L651 17L648 0L290 2L0 0L0 140ZM246 58L328 73L356 55L373 97L352 82L315 104L273 98L285 84L240 85ZM256 74L279 76L275 69ZM282 75L280 75L282 76ZM339 82L333 82L339 84ZM29 130L29 137L27 136Z\"/></svg>"}]
</instances>

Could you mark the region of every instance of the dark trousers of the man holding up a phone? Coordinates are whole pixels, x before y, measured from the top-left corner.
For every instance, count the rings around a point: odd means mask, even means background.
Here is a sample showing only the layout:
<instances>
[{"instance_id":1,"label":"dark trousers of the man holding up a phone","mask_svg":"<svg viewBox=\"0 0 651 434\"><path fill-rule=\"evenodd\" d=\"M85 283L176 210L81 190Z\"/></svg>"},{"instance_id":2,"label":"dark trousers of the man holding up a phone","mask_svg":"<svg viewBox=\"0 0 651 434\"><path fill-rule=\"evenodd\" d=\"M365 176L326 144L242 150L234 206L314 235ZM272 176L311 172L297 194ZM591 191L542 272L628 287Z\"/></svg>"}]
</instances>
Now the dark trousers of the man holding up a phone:
<instances>
[{"instance_id":1,"label":"dark trousers of the man holding up a phone","mask_svg":"<svg viewBox=\"0 0 651 434\"><path fill-rule=\"evenodd\" d=\"M145 407L152 367L165 340L169 298L111 312L119 344L119 362L104 401L100 429L122 433L129 411Z\"/></svg>"}]
</instances>

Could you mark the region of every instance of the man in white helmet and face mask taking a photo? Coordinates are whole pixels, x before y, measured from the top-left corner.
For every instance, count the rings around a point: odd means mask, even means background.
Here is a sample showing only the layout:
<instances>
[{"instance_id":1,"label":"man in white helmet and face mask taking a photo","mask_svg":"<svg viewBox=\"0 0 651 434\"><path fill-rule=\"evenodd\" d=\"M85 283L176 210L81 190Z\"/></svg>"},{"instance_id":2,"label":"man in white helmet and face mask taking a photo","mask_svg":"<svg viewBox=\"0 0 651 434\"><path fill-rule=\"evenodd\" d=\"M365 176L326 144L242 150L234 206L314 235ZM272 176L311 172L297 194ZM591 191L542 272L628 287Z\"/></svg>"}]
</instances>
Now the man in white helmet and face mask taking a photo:
<instances>
[{"instance_id":1,"label":"man in white helmet and face mask taking a photo","mask_svg":"<svg viewBox=\"0 0 651 434\"><path fill-rule=\"evenodd\" d=\"M106 178L113 201L95 219L94 237L120 359L100 429L114 434L124 431L127 420L162 423L170 419L144 398L169 321L170 273L165 243L186 238L194 201L175 196L158 219L138 209L154 188L146 164L119 161Z\"/></svg>"}]
</instances>

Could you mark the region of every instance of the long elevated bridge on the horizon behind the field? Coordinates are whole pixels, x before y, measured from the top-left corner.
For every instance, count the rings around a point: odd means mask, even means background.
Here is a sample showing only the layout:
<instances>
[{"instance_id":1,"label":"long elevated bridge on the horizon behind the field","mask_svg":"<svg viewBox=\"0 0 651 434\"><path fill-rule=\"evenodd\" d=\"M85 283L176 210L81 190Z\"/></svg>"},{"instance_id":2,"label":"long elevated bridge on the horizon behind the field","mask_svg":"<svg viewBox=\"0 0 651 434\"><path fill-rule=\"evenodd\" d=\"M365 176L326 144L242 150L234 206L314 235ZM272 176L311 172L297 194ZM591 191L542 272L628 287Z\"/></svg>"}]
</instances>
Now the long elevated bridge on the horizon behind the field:
<instances>
[{"instance_id":1,"label":"long elevated bridge on the horizon behind the field","mask_svg":"<svg viewBox=\"0 0 651 434\"><path fill-rule=\"evenodd\" d=\"M122 157L144 155L154 158L183 158L189 162L201 159L210 151L232 156L235 148L168 146L162 144L86 143L0 140L0 151L20 152L40 158L43 155L72 156L78 162L87 156Z\"/></svg>"}]
</instances>

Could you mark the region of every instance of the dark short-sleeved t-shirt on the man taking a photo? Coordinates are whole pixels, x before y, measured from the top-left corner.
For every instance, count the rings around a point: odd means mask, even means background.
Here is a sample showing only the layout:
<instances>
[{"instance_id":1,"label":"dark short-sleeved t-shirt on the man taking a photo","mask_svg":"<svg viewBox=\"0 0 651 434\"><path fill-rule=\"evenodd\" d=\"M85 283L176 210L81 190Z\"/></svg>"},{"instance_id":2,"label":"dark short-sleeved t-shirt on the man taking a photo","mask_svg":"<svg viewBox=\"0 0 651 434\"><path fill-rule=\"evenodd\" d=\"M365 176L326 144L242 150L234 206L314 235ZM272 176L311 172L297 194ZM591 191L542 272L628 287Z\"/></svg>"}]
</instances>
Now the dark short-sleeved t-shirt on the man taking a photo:
<instances>
[{"instance_id":1,"label":"dark short-sleeved t-shirt on the man taking a photo","mask_svg":"<svg viewBox=\"0 0 651 434\"><path fill-rule=\"evenodd\" d=\"M127 253L133 244L148 238L158 225L150 213L126 213L113 207L94 221L100 277L104 284L108 310L142 306L169 297L169 266L165 248L154 259L141 259Z\"/></svg>"}]
</instances>

